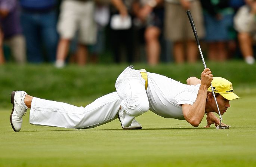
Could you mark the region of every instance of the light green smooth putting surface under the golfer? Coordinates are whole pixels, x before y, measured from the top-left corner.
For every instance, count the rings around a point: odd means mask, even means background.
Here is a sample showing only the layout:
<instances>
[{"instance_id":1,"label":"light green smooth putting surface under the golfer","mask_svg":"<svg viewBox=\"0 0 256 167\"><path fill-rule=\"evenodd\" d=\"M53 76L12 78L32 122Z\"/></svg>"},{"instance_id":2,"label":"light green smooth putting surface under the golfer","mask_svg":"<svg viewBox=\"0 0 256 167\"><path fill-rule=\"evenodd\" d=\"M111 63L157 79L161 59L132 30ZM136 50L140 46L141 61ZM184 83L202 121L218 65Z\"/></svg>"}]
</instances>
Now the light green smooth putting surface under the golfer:
<instances>
[{"instance_id":1,"label":"light green smooth putting surface under the golfer","mask_svg":"<svg viewBox=\"0 0 256 167\"><path fill-rule=\"evenodd\" d=\"M243 97L243 96L242 96ZM255 99L256 97L254 97ZM0 166L256 166L256 113L252 98L231 102L223 115L230 129L194 128L151 111L137 120L141 130L122 130L118 119L86 130L33 126L29 111L13 132L10 110L1 110ZM254 100L254 103L256 101Z\"/></svg>"}]
</instances>

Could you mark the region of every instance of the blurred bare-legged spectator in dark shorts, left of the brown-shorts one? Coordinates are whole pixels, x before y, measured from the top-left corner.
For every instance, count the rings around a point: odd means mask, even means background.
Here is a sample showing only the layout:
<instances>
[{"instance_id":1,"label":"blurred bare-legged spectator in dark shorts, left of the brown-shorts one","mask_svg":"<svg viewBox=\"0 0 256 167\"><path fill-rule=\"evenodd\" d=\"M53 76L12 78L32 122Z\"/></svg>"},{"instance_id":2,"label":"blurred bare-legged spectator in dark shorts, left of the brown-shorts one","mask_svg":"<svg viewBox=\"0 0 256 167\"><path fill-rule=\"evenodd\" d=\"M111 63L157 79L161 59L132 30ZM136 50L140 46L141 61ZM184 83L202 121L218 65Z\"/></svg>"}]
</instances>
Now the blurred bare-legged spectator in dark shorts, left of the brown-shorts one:
<instances>
[{"instance_id":1,"label":"blurred bare-legged spectator in dark shorts, left of the brown-shorts one","mask_svg":"<svg viewBox=\"0 0 256 167\"><path fill-rule=\"evenodd\" d=\"M159 62L161 46L160 35L163 30L163 0L135 0L133 3L137 24L145 27L146 54L149 65Z\"/></svg>"}]
</instances>

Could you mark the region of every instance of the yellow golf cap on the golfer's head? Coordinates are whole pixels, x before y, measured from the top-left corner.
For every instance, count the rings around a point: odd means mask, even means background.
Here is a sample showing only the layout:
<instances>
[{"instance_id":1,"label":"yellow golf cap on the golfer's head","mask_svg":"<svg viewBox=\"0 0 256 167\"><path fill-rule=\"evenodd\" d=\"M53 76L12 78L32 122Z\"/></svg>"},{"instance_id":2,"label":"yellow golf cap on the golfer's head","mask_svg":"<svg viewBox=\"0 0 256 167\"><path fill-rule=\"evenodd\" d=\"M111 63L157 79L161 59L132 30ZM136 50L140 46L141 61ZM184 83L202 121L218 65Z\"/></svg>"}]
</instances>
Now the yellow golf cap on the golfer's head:
<instances>
[{"instance_id":1,"label":"yellow golf cap on the golfer's head","mask_svg":"<svg viewBox=\"0 0 256 167\"><path fill-rule=\"evenodd\" d=\"M239 97L233 92L232 83L221 77L213 77L212 81L213 91L219 93L225 99L234 100ZM208 88L209 92L212 92L211 87Z\"/></svg>"}]
</instances>

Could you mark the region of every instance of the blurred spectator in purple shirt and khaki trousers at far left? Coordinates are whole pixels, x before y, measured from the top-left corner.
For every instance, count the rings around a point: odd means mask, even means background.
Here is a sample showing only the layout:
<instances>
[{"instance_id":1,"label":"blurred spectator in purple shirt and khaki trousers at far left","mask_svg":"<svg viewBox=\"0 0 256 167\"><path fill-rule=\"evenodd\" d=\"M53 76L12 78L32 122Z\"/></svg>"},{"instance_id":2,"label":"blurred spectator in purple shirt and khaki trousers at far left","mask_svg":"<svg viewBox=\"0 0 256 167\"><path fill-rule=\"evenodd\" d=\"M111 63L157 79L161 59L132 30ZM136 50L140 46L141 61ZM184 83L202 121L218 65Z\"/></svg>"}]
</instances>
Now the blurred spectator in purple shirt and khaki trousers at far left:
<instances>
[{"instance_id":1,"label":"blurred spectator in purple shirt and khaki trousers at far left","mask_svg":"<svg viewBox=\"0 0 256 167\"><path fill-rule=\"evenodd\" d=\"M25 40L19 17L18 1L0 0L0 24L4 44L10 48L14 60L23 64L26 62Z\"/></svg>"}]
</instances>

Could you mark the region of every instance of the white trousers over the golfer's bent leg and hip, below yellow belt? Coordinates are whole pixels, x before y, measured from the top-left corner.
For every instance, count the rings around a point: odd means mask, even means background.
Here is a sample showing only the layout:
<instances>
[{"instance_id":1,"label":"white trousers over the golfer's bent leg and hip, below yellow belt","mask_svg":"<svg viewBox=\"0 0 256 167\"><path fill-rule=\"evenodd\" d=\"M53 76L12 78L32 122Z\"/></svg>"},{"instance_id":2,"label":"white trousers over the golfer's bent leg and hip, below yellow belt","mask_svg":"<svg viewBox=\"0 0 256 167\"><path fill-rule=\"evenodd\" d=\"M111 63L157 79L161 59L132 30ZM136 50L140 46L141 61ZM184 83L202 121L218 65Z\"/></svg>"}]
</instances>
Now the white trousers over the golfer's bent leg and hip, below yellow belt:
<instances>
[{"instance_id":1,"label":"white trousers over the golfer's bent leg and hip, below yellow belt","mask_svg":"<svg viewBox=\"0 0 256 167\"><path fill-rule=\"evenodd\" d=\"M123 126L128 127L135 117L149 109L145 80L141 77L141 72L129 66L117 78L115 88L122 99L121 108L125 114Z\"/></svg>"}]
</instances>

